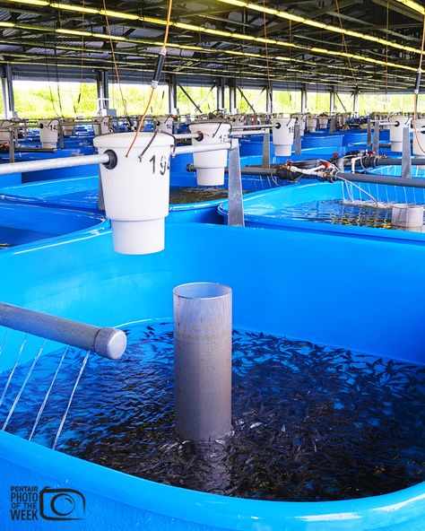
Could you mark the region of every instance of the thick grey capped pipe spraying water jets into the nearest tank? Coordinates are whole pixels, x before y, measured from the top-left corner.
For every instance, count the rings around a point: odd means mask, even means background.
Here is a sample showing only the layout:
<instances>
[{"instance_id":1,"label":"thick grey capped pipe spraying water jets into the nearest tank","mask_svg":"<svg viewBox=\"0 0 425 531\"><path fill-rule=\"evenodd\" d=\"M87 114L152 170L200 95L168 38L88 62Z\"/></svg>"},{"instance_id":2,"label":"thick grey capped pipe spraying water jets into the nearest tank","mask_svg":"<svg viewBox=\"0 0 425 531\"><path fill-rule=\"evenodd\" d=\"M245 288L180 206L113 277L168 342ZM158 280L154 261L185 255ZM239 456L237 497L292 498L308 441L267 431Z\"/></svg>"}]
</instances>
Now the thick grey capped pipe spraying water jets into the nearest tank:
<instances>
[{"instance_id":1,"label":"thick grey capped pipe spraying water jets into the nearest tank","mask_svg":"<svg viewBox=\"0 0 425 531\"><path fill-rule=\"evenodd\" d=\"M0 326L69 344L109 360L117 360L126 351L126 334L118 328L86 325L5 302L0 302Z\"/></svg>"}]
</instances>

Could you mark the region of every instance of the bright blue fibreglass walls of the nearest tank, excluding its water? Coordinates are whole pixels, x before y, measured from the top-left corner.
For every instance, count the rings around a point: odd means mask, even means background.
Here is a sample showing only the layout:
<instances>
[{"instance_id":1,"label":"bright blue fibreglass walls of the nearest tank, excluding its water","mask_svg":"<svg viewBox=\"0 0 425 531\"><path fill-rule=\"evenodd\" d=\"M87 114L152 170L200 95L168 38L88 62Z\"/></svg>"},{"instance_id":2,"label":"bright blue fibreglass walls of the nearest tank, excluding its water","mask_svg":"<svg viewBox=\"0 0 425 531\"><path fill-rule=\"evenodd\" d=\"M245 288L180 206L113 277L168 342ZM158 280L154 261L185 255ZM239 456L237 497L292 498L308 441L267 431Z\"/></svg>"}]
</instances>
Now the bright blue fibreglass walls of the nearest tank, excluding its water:
<instances>
[{"instance_id":1,"label":"bright blue fibreglass walls of the nearest tank, excluding its water","mask_svg":"<svg viewBox=\"0 0 425 531\"><path fill-rule=\"evenodd\" d=\"M171 318L172 290L178 284L225 283L233 290L235 327L424 361L423 242L395 244L388 239L195 223L169 224L166 242L162 253L120 256L113 253L110 234L104 231L56 245L22 247L19 253L5 250L0 270L4 275L13 271L13 276L1 284L0 299L116 326ZM383 257L391 267L382 267ZM347 293L350 303L341 311ZM388 313L377 311L375 303L365 304L363 296L352 296L359 293L373 294L380 308L391 308L397 300L411 311L399 312L388 326ZM26 351L21 362L35 355ZM125 355L131 360L132 353ZM0 358L3 370L10 370L15 359L16 352L6 349ZM131 370L131 363L128 367ZM244 500L152 483L4 431L0 474L2 500L10 499L10 485L49 485L82 493L82 522L38 522L46 531L59 525L65 531L423 531L423 483L349 501Z\"/></svg>"}]
</instances>

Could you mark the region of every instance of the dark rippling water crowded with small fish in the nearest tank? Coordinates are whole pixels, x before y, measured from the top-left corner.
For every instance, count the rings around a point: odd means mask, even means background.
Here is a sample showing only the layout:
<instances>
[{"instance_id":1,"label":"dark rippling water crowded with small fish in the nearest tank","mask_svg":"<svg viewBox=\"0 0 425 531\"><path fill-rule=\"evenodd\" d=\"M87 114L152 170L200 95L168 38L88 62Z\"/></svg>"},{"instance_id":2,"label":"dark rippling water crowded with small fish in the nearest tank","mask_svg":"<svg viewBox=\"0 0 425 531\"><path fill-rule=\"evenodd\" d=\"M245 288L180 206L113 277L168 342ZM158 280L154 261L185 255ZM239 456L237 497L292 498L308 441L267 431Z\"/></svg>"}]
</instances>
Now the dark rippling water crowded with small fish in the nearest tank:
<instances>
[{"instance_id":1,"label":"dark rippling water crowded with small fish in the nearest tank","mask_svg":"<svg viewBox=\"0 0 425 531\"><path fill-rule=\"evenodd\" d=\"M126 331L121 360L89 356L56 449L155 482L272 501L360 498L425 480L423 366L234 330L233 433L195 444L173 431L172 323ZM62 354L39 357L7 431L29 438ZM52 446L85 355L65 354L33 441ZM1 424L30 363L13 374Z\"/></svg>"}]
</instances>

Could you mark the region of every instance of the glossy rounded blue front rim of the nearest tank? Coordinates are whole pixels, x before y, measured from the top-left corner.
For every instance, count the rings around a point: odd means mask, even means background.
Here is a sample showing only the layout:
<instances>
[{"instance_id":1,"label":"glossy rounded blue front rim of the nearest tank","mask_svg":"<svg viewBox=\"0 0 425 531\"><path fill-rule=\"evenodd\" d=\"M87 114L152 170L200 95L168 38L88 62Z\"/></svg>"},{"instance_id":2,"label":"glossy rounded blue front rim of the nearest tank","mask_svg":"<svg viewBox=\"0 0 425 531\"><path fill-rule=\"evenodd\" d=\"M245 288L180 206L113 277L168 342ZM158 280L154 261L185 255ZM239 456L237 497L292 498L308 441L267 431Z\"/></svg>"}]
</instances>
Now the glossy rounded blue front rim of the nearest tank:
<instances>
[{"instance_id":1,"label":"glossy rounded blue front rim of the nearest tank","mask_svg":"<svg viewBox=\"0 0 425 531\"><path fill-rule=\"evenodd\" d=\"M4 431L0 433L0 453L33 473L51 475L52 480L63 477L82 492L205 526L223 527L225 522L226 528L235 531L257 531L258 526L282 529L294 520L305 523L308 531L323 531L324 524L337 521L343 526L360 519L364 520L364 528L373 530L402 525L412 518L413 510L425 511L425 482L401 491L347 501L261 501L155 483Z\"/></svg>"}]
</instances>

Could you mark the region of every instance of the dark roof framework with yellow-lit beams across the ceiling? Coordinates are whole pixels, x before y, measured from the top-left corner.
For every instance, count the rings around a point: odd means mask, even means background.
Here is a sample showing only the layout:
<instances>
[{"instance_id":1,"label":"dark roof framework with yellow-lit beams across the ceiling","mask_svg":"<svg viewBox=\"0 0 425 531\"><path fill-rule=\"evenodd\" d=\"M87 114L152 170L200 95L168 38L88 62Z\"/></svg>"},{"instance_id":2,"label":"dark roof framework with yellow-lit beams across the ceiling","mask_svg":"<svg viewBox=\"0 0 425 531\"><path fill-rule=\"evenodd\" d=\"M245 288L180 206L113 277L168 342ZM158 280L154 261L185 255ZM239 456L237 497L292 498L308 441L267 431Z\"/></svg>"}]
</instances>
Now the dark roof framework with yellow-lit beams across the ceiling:
<instances>
[{"instance_id":1,"label":"dark roof framework with yellow-lit beams across the ceiling","mask_svg":"<svg viewBox=\"0 0 425 531\"><path fill-rule=\"evenodd\" d=\"M173 5L164 77L182 84L413 91L424 15L403 0L188 0ZM104 9L106 5L106 12ZM167 3L0 0L0 63L21 79L149 83ZM108 18L108 21L107 21ZM108 33L108 25L110 35ZM112 49L114 54L112 54ZM268 63L268 68L267 68Z\"/></svg>"}]
</instances>

